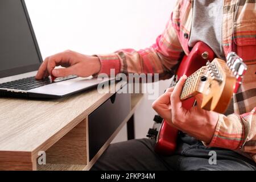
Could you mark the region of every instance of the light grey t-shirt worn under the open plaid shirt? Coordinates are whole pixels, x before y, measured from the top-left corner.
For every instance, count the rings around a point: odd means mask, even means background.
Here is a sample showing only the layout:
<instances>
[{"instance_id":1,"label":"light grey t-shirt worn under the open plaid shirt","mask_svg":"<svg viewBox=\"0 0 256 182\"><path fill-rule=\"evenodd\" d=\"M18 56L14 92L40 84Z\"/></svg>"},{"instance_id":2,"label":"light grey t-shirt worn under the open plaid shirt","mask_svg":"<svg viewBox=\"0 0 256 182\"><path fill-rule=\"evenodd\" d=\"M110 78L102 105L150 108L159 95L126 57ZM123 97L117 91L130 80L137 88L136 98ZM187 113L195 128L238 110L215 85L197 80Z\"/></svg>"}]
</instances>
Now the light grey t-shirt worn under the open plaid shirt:
<instances>
[{"instance_id":1,"label":"light grey t-shirt worn under the open plaid shirt","mask_svg":"<svg viewBox=\"0 0 256 182\"><path fill-rule=\"evenodd\" d=\"M222 46L222 16L224 0L193 1L193 18L189 47L199 41L213 49L220 59L225 59Z\"/></svg>"}]
</instances>

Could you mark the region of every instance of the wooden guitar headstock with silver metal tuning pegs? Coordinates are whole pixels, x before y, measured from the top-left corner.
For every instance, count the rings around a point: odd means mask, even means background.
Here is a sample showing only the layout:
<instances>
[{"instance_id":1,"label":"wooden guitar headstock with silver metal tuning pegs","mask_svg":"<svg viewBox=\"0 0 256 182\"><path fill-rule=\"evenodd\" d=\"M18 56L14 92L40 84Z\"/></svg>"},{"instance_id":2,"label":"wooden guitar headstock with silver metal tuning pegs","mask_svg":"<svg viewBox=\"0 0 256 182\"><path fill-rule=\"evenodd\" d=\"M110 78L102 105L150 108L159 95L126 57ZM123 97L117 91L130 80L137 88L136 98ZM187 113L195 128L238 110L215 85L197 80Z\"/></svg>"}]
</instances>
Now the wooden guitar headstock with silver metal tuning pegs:
<instances>
[{"instance_id":1,"label":"wooden guitar headstock with silver metal tuning pegs","mask_svg":"<svg viewBox=\"0 0 256 182\"><path fill-rule=\"evenodd\" d=\"M234 52L229 53L227 60L226 63L224 60L214 59L204 68L200 92L204 95L201 107L205 110L225 113L233 93L237 93L241 85L247 70L246 64Z\"/></svg>"}]
</instances>

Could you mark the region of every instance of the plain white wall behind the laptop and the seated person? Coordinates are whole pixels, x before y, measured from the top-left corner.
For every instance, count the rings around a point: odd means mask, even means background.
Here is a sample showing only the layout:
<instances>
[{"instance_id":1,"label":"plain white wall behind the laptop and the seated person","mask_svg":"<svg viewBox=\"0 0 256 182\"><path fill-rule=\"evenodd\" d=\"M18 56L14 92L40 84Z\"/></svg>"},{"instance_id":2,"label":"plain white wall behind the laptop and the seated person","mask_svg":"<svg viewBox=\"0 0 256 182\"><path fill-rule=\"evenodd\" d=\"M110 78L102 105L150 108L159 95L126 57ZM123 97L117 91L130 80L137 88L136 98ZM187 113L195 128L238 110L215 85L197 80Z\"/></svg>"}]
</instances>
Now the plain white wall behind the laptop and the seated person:
<instances>
[{"instance_id":1,"label":"plain white wall behind the laptop and the seated person","mask_svg":"<svg viewBox=\"0 0 256 182\"><path fill-rule=\"evenodd\" d=\"M92 55L151 46L162 34L174 0L26 0L43 58L72 49ZM160 93L169 82L162 82ZM135 113L136 138L152 126L152 101ZM115 141L125 140L125 129Z\"/></svg>"}]
</instances>

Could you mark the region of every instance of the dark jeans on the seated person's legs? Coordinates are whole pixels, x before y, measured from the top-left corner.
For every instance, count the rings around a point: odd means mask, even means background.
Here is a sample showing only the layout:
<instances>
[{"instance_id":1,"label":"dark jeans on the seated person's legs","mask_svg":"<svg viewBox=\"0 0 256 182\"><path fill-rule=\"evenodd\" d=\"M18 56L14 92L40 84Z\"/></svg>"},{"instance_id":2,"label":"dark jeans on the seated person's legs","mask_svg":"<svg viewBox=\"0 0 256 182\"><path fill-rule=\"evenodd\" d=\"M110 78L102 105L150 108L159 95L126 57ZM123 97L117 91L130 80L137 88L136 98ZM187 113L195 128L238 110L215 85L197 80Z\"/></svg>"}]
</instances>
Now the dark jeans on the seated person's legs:
<instances>
[{"instance_id":1,"label":"dark jeans on the seated person's legs","mask_svg":"<svg viewBox=\"0 0 256 182\"><path fill-rule=\"evenodd\" d=\"M93 166L101 171L152 171L152 170L256 170L253 160L231 150L208 148L195 138L181 133L174 155L162 156L154 152L151 139L129 140L112 144ZM209 163L209 152L215 151L217 164Z\"/></svg>"}]
</instances>

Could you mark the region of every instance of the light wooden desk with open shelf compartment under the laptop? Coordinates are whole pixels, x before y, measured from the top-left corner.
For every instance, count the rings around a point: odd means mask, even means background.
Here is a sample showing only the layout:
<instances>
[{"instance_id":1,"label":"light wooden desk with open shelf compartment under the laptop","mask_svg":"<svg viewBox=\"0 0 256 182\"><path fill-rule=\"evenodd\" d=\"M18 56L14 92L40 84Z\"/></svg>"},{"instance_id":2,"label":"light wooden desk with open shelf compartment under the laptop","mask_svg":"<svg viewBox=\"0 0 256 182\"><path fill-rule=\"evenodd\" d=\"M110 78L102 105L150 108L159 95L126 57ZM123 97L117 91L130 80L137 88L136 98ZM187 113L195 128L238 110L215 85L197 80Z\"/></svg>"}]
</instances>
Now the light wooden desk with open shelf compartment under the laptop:
<instances>
[{"instance_id":1,"label":"light wooden desk with open shelf compartment under the laptop","mask_svg":"<svg viewBox=\"0 0 256 182\"><path fill-rule=\"evenodd\" d=\"M114 86L110 90L113 89ZM92 89L60 100L0 98L0 170L90 169L133 116L143 94L119 94L117 104L113 104L113 97L112 93L99 94L97 89ZM98 139L103 133L97 133L98 138L91 137L90 141L89 136L93 136L90 127L100 131L99 123L105 121L90 120L101 115L98 111L104 113L98 109L123 108L122 97L129 98L129 111L118 109L109 113L125 113L125 117L122 115L122 121L114 124L113 133L106 135L109 137L101 146L94 146L92 155L89 143L94 143L94 139L95 143L102 143ZM110 103L114 106L107 105ZM98 124L94 126L94 122ZM110 131L106 123L104 126L104 131ZM46 165L38 164L40 151L46 151Z\"/></svg>"}]
</instances>

